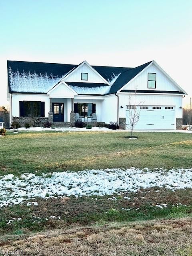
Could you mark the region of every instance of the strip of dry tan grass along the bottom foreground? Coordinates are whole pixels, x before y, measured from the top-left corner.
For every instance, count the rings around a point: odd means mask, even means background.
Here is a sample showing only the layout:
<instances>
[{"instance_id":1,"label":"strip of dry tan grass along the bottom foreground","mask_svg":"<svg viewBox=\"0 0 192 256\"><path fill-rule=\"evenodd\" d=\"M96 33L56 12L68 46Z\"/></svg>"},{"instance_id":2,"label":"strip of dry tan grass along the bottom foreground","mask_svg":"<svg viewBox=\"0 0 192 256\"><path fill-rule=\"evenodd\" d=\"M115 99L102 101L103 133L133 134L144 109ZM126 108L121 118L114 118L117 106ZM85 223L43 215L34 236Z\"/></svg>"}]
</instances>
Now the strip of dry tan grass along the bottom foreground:
<instances>
[{"instance_id":1,"label":"strip of dry tan grass along the bottom foreground","mask_svg":"<svg viewBox=\"0 0 192 256\"><path fill-rule=\"evenodd\" d=\"M191 256L192 219L70 226L3 236L0 246L30 256Z\"/></svg>"}]
</instances>

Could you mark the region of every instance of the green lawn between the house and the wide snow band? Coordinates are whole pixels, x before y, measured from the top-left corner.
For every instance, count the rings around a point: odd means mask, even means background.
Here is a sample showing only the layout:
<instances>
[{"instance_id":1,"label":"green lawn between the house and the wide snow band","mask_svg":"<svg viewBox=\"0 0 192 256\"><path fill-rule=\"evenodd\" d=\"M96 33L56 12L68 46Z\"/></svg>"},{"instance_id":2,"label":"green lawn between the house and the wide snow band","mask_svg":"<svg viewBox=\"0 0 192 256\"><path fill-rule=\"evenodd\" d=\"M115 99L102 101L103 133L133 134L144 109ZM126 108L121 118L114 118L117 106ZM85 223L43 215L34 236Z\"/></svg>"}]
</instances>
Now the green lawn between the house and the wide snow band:
<instances>
[{"instance_id":1,"label":"green lawn between the house and the wide snow band","mask_svg":"<svg viewBox=\"0 0 192 256\"><path fill-rule=\"evenodd\" d=\"M192 134L139 132L8 132L0 138L0 174L101 168L188 168Z\"/></svg>"}]
</instances>

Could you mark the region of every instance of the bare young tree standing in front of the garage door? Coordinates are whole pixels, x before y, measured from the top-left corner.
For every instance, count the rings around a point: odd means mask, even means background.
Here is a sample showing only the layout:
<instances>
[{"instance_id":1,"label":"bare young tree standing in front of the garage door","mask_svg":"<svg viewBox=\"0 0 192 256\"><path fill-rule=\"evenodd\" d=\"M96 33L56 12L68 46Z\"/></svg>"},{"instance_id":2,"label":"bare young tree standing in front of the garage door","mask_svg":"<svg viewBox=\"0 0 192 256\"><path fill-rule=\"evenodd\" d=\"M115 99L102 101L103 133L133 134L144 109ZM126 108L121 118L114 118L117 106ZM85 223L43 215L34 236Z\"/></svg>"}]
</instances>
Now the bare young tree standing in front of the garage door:
<instances>
[{"instance_id":1,"label":"bare young tree standing in front of the garage door","mask_svg":"<svg viewBox=\"0 0 192 256\"><path fill-rule=\"evenodd\" d=\"M139 102L138 104L136 104L136 90L135 90L135 94L134 94L134 102L132 103L132 96L129 96L129 105L128 105L128 109L129 111L127 114L127 118L128 118L128 124L126 124L126 127L131 130L131 136L134 130L134 127L136 126L136 124L139 121L139 117L140 117L140 112L141 112L141 108L140 106L143 105L143 102Z\"/></svg>"}]
</instances>

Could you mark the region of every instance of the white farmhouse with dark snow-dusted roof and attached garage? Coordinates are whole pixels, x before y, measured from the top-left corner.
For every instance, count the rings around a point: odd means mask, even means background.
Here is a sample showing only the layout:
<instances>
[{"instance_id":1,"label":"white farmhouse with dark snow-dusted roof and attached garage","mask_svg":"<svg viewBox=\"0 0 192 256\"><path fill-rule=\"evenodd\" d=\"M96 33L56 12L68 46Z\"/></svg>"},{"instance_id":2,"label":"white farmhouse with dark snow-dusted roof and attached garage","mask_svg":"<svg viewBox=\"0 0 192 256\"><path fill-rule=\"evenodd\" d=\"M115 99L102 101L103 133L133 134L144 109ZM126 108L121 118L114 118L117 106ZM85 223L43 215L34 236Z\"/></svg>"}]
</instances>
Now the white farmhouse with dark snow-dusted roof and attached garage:
<instances>
[{"instance_id":1,"label":"white farmhouse with dark snow-dusted roof and attached garage","mask_svg":"<svg viewBox=\"0 0 192 256\"><path fill-rule=\"evenodd\" d=\"M10 122L21 126L32 117L36 125L74 126L76 117L128 129L136 93L142 105L135 129L182 128L186 92L155 61L136 68L8 61L7 68Z\"/></svg>"}]
</instances>

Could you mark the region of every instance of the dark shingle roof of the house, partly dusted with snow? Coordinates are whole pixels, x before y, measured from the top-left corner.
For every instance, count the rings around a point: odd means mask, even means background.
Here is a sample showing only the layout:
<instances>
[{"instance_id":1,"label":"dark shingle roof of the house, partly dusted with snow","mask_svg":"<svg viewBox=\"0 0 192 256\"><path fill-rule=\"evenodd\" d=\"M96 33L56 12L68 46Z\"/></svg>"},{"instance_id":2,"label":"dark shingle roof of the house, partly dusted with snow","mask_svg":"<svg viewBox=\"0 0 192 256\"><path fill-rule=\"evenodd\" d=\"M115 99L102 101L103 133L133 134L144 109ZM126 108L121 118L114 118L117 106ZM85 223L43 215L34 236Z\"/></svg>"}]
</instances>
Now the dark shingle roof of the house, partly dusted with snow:
<instances>
[{"instance_id":1,"label":"dark shingle roof of the house, partly dusted with snow","mask_svg":"<svg viewBox=\"0 0 192 256\"><path fill-rule=\"evenodd\" d=\"M122 86L128 83L134 76L142 71L150 62L136 68L92 66L108 82L115 80L107 93L102 90L102 94L113 94ZM8 60L8 87L9 92L20 93L47 93L52 89L63 76L71 72L79 65L56 64L44 62L24 62ZM97 83L73 83L67 82L71 86L77 87L102 87L107 84Z\"/></svg>"}]
</instances>

